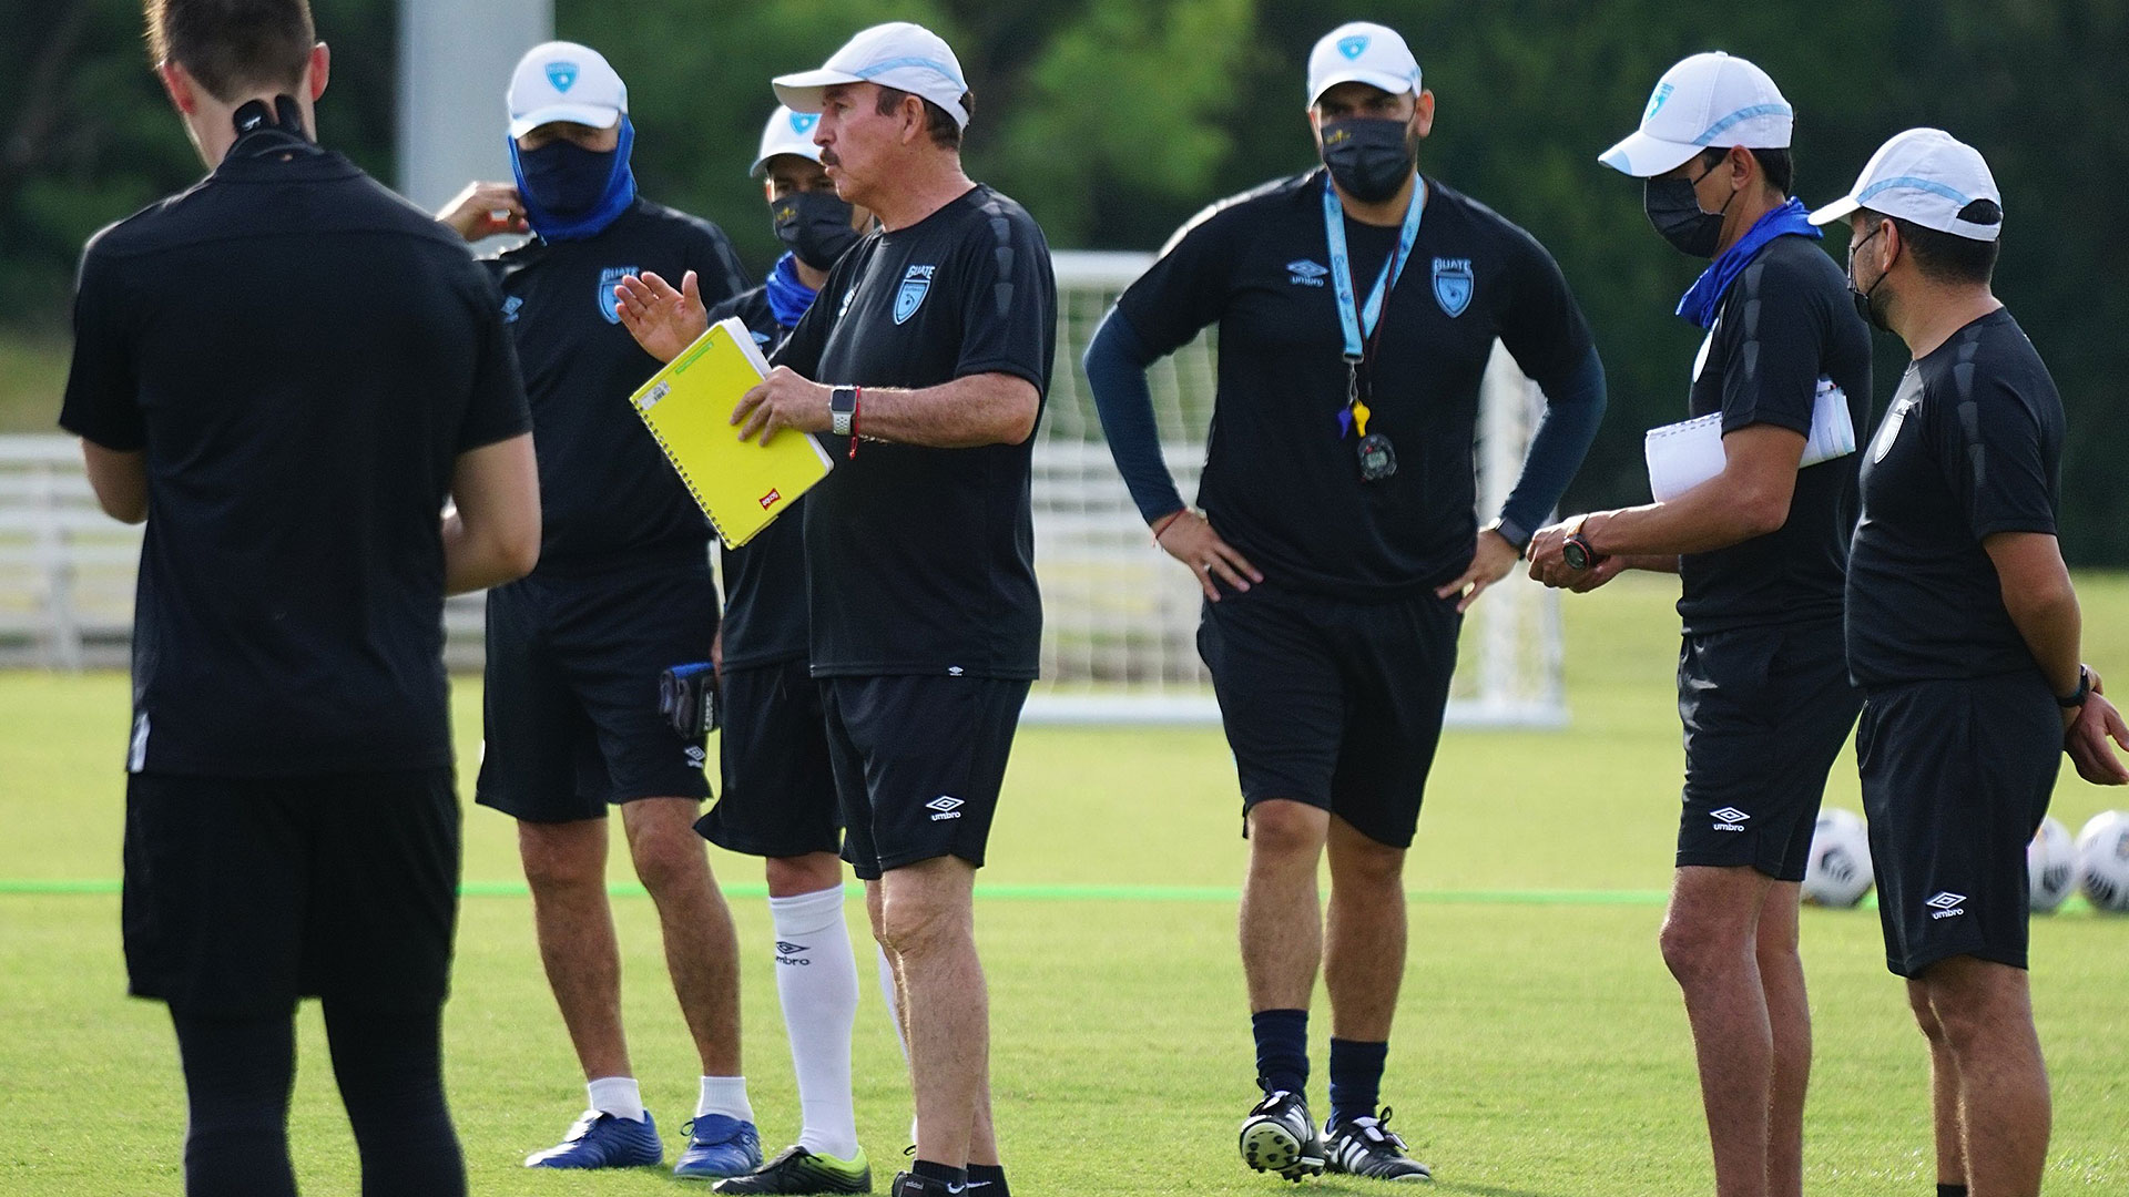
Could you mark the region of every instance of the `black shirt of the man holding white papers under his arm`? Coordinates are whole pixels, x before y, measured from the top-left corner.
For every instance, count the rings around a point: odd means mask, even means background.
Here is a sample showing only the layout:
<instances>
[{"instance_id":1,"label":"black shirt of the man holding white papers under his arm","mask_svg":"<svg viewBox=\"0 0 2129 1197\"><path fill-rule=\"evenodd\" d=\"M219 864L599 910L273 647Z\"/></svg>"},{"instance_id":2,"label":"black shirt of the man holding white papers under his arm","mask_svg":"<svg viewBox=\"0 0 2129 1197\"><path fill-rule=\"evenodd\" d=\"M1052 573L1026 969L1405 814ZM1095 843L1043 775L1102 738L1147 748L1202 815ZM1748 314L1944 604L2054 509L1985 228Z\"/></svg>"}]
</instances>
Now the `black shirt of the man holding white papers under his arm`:
<instances>
[{"instance_id":1,"label":"black shirt of the man holding white papers under his arm","mask_svg":"<svg viewBox=\"0 0 2129 1197\"><path fill-rule=\"evenodd\" d=\"M1722 292L1693 364L1690 413L1720 411L1722 434L1773 424L1810 437L1818 379L1833 379L1861 437L1869 354L1842 268L1814 239L1776 236ZM1686 635L1839 620L1854 520L1856 454L1797 471L1780 528L1678 558Z\"/></svg>"}]
</instances>

